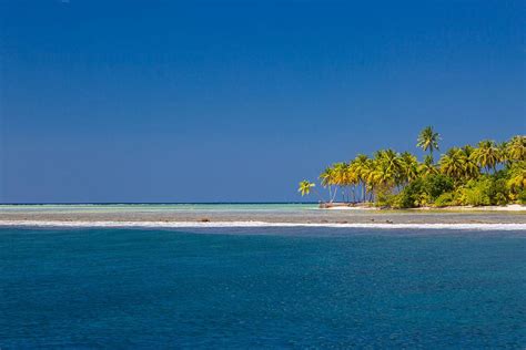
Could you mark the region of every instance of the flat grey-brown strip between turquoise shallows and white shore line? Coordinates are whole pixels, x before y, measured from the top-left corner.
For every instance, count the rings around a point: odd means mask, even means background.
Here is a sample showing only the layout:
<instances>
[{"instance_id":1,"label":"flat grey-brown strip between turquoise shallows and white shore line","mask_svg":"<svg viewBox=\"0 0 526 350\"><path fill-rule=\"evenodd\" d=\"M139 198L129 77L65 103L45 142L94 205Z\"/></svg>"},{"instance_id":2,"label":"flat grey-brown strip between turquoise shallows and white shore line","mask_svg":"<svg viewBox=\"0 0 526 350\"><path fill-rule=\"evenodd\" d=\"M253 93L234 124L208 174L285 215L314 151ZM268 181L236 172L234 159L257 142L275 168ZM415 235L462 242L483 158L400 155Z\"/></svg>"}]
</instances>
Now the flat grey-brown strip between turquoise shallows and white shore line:
<instances>
[{"instance_id":1,"label":"flat grey-brown strip between turquoise shallows and white shore line","mask_svg":"<svg viewBox=\"0 0 526 350\"><path fill-rule=\"evenodd\" d=\"M28 209L0 210L0 222L60 223L270 223L270 224L526 224L524 212L497 210L171 210L171 209Z\"/></svg>"}]
</instances>

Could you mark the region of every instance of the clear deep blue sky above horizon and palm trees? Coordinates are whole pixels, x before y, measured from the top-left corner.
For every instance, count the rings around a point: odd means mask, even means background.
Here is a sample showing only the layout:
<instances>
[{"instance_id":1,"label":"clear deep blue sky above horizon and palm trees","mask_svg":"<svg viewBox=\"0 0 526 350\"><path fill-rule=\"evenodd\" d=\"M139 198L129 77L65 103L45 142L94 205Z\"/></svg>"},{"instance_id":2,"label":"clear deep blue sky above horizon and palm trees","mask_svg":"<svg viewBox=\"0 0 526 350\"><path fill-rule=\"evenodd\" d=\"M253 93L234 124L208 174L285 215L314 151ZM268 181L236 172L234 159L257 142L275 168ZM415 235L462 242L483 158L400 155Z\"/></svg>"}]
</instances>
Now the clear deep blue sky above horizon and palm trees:
<instances>
[{"instance_id":1,"label":"clear deep blue sky above horizon and palm trees","mask_svg":"<svg viewBox=\"0 0 526 350\"><path fill-rule=\"evenodd\" d=\"M518 1L0 1L0 202L300 200L358 152L526 132ZM315 198L313 198L315 199Z\"/></svg>"}]
</instances>

